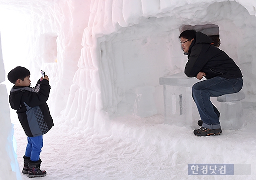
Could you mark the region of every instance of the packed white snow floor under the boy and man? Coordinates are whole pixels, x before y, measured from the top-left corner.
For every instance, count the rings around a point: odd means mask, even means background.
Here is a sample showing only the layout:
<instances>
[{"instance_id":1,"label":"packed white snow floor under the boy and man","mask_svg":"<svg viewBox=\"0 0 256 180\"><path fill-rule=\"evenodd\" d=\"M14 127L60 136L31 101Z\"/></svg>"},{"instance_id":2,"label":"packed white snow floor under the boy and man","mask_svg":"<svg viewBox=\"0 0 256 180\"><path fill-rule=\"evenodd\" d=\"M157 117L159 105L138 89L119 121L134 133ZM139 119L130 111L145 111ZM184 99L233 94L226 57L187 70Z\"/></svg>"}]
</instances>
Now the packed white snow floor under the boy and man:
<instances>
[{"instance_id":1,"label":"packed white snow floor under the boy and man","mask_svg":"<svg viewBox=\"0 0 256 180\"><path fill-rule=\"evenodd\" d=\"M191 126L163 124L163 117L119 117L111 120L112 135L66 125L55 126L43 136L41 180L255 180L256 107L248 106L247 125L223 129L220 136L196 137ZM12 113L20 170L27 138ZM114 130L113 130L114 129ZM251 164L251 176L192 176L189 163ZM28 180L22 175L23 180ZM38 178L35 178L38 179Z\"/></svg>"}]
</instances>

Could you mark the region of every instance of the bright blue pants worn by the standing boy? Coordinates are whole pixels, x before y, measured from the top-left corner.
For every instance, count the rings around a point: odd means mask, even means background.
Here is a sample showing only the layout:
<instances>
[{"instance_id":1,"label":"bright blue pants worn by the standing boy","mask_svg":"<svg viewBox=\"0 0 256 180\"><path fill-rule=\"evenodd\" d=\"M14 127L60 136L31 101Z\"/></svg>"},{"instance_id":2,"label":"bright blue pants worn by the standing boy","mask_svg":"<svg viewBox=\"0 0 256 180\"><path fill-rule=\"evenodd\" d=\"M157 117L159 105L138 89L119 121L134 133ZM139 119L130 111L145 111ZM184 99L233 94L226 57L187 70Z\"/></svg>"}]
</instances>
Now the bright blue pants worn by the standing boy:
<instances>
[{"instance_id":1,"label":"bright blue pants worn by the standing boy","mask_svg":"<svg viewBox=\"0 0 256 180\"><path fill-rule=\"evenodd\" d=\"M38 161L40 152L43 147L43 135L36 137L28 137L28 145L26 148L25 156L30 157L32 161Z\"/></svg>"}]
</instances>

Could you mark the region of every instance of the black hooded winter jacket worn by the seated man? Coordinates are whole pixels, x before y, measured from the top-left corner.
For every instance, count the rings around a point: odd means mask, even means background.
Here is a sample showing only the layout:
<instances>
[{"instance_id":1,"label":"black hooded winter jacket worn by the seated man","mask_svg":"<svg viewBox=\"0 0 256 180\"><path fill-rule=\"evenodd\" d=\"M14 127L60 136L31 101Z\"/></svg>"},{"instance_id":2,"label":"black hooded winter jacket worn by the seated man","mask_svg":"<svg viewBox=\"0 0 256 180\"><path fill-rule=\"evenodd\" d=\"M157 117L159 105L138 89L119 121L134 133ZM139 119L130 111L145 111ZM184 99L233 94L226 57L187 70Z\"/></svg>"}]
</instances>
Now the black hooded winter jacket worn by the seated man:
<instances>
[{"instance_id":1,"label":"black hooded winter jacket worn by the seated man","mask_svg":"<svg viewBox=\"0 0 256 180\"><path fill-rule=\"evenodd\" d=\"M201 71L206 74L206 79L215 76L227 79L242 77L241 70L234 60L211 43L212 40L207 35L202 32L195 33L195 39L188 53L189 60L185 66L185 74L188 77L196 77Z\"/></svg>"}]
</instances>

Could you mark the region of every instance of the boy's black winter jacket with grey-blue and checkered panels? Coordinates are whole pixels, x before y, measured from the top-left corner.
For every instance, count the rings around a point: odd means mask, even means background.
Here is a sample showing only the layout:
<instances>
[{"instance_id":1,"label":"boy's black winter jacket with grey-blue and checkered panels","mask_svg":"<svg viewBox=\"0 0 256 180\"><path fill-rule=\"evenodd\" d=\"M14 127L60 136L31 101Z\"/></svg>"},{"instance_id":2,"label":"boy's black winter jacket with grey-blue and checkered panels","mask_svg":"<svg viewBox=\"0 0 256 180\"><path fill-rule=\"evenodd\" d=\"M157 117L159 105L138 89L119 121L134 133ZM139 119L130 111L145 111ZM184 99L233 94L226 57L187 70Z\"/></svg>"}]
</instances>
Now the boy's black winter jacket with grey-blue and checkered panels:
<instances>
[{"instance_id":1,"label":"boy's black winter jacket with grey-blue and checkered panels","mask_svg":"<svg viewBox=\"0 0 256 180\"><path fill-rule=\"evenodd\" d=\"M46 103L50 93L49 81L38 81L35 88L14 86L9 95L12 109L17 110L20 123L28 137L48 132L53 124Z\"/></svg>"}]
</instances>

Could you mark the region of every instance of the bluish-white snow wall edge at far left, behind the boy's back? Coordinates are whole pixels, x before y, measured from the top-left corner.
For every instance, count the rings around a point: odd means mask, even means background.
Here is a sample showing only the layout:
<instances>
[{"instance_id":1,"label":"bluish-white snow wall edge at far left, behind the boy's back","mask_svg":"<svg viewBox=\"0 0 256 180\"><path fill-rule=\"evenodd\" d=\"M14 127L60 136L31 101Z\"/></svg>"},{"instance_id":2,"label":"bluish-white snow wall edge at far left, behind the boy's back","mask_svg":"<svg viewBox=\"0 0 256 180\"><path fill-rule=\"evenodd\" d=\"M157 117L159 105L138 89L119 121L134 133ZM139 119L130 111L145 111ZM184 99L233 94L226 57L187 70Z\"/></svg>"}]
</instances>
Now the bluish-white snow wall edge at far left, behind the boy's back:
<instances>
[{"instance_id":1,"label":"bluish-white snow wall edge at far left, behind the boy's back","mask_svg":"<svg viewBox=\"0 0 256 180\"><path fill-rule=\"evenodd\" d=\"M5 80L5 71L2 60L1 36L0 36L0 179L21 180L16 153L13 147L13 126L10 119L10 110Z\"/></svg>"}]
</instances>

